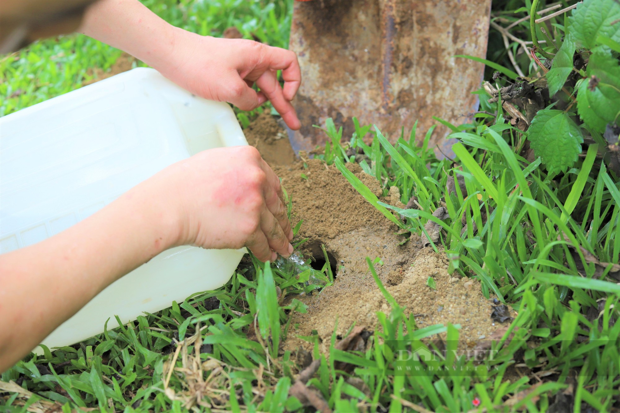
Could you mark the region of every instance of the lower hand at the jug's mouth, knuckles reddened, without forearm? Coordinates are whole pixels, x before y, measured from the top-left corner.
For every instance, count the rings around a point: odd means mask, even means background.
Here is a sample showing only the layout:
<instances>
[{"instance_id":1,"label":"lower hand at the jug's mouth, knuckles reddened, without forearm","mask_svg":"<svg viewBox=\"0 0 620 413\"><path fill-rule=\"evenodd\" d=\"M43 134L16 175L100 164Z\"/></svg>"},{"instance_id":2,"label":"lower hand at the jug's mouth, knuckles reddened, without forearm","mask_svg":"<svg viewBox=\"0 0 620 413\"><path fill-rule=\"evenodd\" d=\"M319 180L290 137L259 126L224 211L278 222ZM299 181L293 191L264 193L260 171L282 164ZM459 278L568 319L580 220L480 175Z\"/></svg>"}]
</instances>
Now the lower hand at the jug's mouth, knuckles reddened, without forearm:
<instances>
[{"instance_id":1,"label":"lower hand at the jug's mouth, knuckles reddened, without forearm","mask_svg":"<svg viewBox=\"0 0 620 413\"><path fill-rule=\"evenodd\" d=\"M245 246L262 261L293 252L280 180L252 146L203 151L149 181L150 197L173 215L174 245Z\"/></svg>"}]
</instances>

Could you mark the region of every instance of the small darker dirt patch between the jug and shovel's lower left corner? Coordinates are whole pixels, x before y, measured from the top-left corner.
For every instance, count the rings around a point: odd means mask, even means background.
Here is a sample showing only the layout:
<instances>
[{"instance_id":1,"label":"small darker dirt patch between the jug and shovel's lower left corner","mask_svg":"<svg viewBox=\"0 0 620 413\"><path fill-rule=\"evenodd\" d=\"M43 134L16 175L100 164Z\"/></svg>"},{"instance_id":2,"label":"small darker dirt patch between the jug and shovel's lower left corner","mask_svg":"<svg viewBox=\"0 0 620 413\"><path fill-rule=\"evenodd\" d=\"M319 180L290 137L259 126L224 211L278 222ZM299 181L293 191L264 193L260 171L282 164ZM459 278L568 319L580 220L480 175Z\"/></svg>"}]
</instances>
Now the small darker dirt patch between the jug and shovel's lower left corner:
<instances>
[{"instance_id":1,"label":"small darker dirt patch between the jug and shovel's lower left corner","mask_svg":"<svg viewBox=\"0 0 620 413\"><path fill-rule=\"evenodd\" d=\"M295 161L295 153L288 143L286 130L278 125L269 113L260 113L243 133L247 143L259 149L263 159L271 167L290 165Z\"/></svg>"}]
</instances>

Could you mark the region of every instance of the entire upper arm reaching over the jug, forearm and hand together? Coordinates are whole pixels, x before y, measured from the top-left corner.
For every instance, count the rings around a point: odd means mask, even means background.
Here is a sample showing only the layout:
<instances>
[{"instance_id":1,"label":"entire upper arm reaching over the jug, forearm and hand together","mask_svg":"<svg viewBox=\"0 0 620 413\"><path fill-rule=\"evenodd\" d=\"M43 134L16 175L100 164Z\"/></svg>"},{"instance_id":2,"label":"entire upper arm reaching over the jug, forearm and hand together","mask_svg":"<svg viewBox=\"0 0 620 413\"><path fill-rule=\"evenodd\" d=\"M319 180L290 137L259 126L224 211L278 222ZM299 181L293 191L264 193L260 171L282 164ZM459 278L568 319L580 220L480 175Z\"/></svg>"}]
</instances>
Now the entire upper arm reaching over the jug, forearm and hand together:
<instances>
[{"instance_id":1,"label":"entire upper arm reaching over the jug, forearm and hand together","mask_svg":"<svg viewBox=\"0 0 620 413\"><path fill-rule=\"evenodd\" d=\"M270 100L286 125L301 127L291 100L301 83L295 53L243 39L201 36L174 27L138 0L99 0L79 32L136 56L205 99L252 110ZM282 71L284 88L277 71ZM260 92L252 90L257 84Z\"/></svg>"}]
</instances>

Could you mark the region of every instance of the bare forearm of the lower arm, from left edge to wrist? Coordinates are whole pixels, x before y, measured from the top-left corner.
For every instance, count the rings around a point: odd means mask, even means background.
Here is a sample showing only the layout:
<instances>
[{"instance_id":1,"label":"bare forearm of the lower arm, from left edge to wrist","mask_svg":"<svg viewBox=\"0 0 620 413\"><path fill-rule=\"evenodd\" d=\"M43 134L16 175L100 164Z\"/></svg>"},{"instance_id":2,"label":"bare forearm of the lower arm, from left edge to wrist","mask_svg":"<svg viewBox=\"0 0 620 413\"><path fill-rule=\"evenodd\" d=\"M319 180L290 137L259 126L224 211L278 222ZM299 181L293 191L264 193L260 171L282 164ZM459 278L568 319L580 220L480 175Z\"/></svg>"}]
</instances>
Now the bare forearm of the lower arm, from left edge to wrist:
<instances>
[{"instance_id":1,"label":"bare forearm of the lower arm, from left edge to wrist","mask_svg":"<svg viewBox=\"0 0 620 413\"><path fill-rule=\"evenodd\" d=\"M75 226L0 255L0 372L106 286L173 246L147 181Z\"/></svg>"}]
</instances>

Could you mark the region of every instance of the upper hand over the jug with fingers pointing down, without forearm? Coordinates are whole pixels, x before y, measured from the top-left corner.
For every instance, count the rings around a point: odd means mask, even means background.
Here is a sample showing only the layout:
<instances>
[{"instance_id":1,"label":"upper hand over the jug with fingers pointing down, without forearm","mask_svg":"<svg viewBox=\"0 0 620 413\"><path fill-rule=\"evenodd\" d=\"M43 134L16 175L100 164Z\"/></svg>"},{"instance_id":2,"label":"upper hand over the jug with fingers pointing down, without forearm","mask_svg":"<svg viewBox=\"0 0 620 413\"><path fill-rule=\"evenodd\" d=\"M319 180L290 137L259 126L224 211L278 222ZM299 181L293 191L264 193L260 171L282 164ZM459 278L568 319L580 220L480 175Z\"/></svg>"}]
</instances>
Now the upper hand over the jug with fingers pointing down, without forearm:
<instances>
[{"instance_id":1,"label":"upper hand over the jug with fingers pointing down, without forearm","mask_svg":"<svg viewBox=\"0 0 620 413\"><path fill-rule=\"evenodd\" d=\"M252 40L201 36L176 27L174 31L170 56L154 66L164 76L200 97L230 102L241 110L270 100L288 127L301 127L291 105L301 82L293 51ZM254 83L259 92L252 89Z\"/></svg>"}]
</instances>

